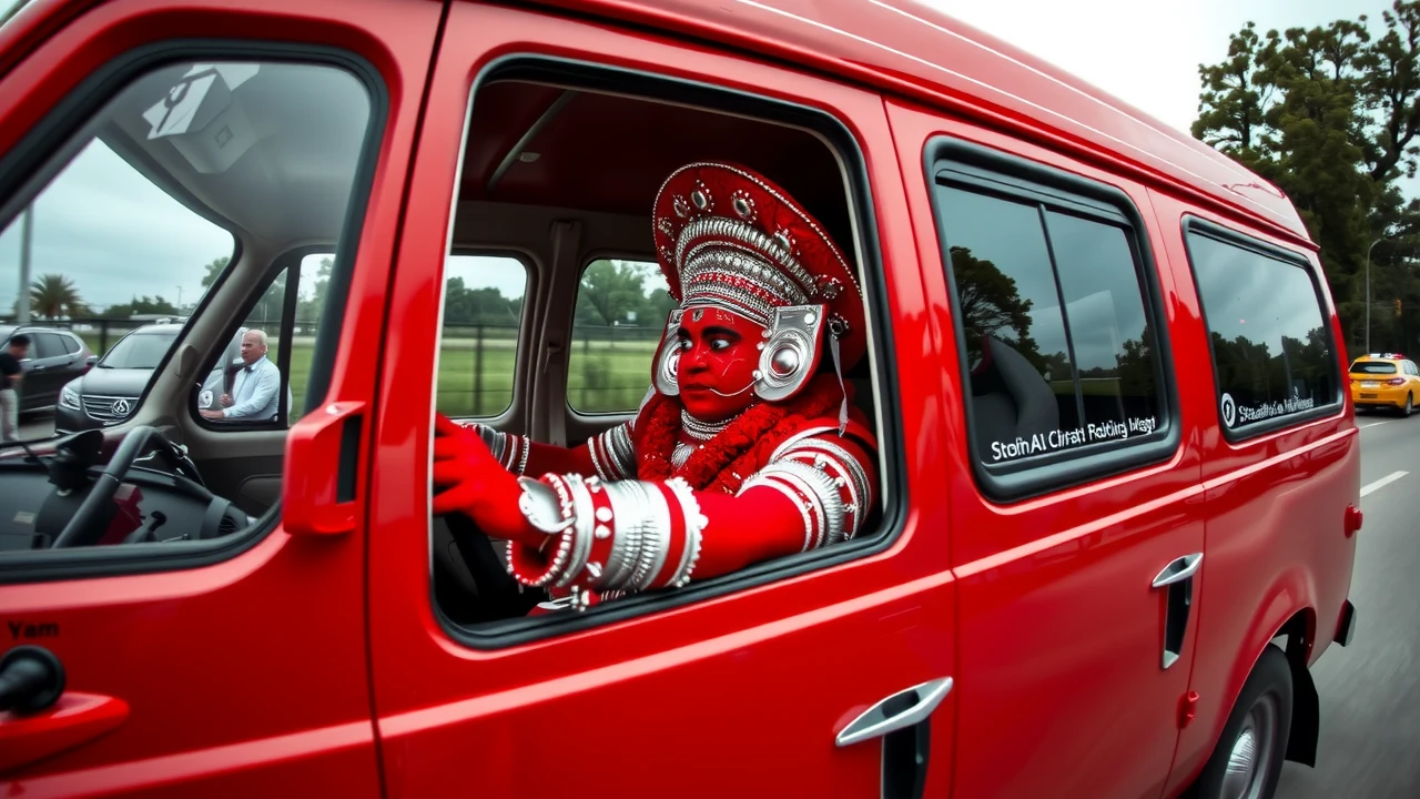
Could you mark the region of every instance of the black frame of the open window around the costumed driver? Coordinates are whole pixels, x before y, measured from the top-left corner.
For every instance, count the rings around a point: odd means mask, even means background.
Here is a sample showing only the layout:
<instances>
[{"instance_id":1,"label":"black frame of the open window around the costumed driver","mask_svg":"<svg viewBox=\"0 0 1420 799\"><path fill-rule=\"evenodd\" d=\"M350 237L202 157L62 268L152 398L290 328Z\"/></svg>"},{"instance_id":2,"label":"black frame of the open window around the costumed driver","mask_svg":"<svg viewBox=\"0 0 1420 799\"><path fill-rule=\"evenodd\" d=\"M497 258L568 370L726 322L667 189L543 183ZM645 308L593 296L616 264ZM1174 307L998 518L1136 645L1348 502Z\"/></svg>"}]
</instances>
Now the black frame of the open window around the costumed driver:
<instances>
[{"instance_id":1,"label":"black frame of the open window around the costumed driver","mask_svg":"<svg viewBox=\"0 0 1420 799\"><path fill-rule=\"evenodd\" d=\"M650 73L613 67L606 63L562 58L540 53L510 53L484 64L471 81L466 100L466 119L477 112L479 91L496 80L527 80L552 82L582 90L611 91L645 101L674 102L697 108L730 112L751 119L774 119L778 124L798 125L815 131L825 146L839 156L848 176L846 199L853 222L855 240L843 243L851 252L862 253L855 263L861 273L863 303L869 318L868 358L875 380L875 404L880 419L878 439L879 475L876 502L880 513L872 530L851 542L829 547L791 554L775 560L754 563L730 574L701 581L670 591L630 594L616 601L595 604L581 613L554 613L537 617L514 617L479 626L464 626L453 621L439 604L433 580L429 580L427 601L443 631L462 647L476 651L506 650L572 633L616 624L650 613L663 613L693 604L703 604L716 597L738 593L770 583L782 583L811 572L825 572L834 566L870 557L892 547L906 529L910 493L907 485L907 463L905 456L906 436L902 424L902 402L897 388L897 363L893 357L892 314L888 303L888 280L882 246L878 236L876 206L872 199L868 159L862 145L838 117L811 105L774 98L767 94L753 94L743 90L707 84L699 80L673 77L665 73ZM469 124L464 127L467 136ZM467 146L467 141L460 146ZM457 185L457 183L456 183ZM453 220L450 220L453 223ZM648 225L650 220L648 219ZM589 262L588 262L589 263ZM578 281L582 272L577 273ZM575 314L575 304L572 306ZM572 317L567 318L571 328ZM649 375L648 375L649 377ZM876 422L878 419L875 419ZM433 546L433 527L427 530L427 546Z\"/></svg>"}]
</instances>

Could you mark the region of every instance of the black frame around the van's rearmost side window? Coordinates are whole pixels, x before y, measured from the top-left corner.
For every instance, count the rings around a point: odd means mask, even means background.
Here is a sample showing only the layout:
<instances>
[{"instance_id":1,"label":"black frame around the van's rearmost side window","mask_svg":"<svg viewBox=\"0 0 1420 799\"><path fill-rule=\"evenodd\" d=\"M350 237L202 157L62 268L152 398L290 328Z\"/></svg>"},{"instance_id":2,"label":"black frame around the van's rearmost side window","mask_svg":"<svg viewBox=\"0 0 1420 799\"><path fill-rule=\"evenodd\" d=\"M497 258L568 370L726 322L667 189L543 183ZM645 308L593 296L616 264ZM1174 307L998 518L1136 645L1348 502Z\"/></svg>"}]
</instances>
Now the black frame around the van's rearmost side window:
<instances>
[{"instance_id":1,"label":"black frame around the van's rearmost side window","mask_svg":"<svg viewBox=\"0 0 1420 799\"><path fill-rule=\"evenodd\" d=\"M1349 381L1349 364L1346 370L1342 370L1340 351L1336 348L1336 334L1332 328L1332 307L1326 301L1326 294L1322 291L1322 286L1318 280L1316 269L1306 256L1281 247L1268 242L1264 242L1255 236L1250 236L1225 225L1186 213L1180 225L1180 233L1183 236L1183 247L1189 254L1189 277L1193 281L1194 296L1198 299L1198 316L1203 318L1203 333L1208 344L1208 367L1213 370L1213 412L1214 419L1217 419L1218 429L1223 432L1223 438L1228 444L1244 444L1258 436L1271 435L1285 429L1296 428L1308 422L1318 419L1325 419L1328 417L1336 415L1346 407L1345 394L1342 392L1343 372L1348 374ZM1284 417L1277 417L1271 419L1264 419L1260 422L1252 422L1242 428L1241 431L1230 428L1223 424L1223 381L1218 375L1218 355L1213 350L1213 326L1208 323L1208 309L1203 301L1203 286L1198 283L1198 272L1194 269L1197 263L1193 253L1193 236L1207 236L1220 242L1223 245L1235 246L1242 250L1252 252L1261 257L1268 257L1272 260L1279 260L1288 266L1295 266L1302 270L1306 279L1312 284L1312 296L1316 300L1316 310L1321 311L1322 328L1326 331L1326 347L1331 351L1331 368L1332 368L1332 401L1325 405L1318 405L1309 411L1301 411L1296 414L1287 414ZM1349 382L1348 382L1349 385ZM1349 392L1349 388L1348 388Z\"/></svg>"}]
</instances>

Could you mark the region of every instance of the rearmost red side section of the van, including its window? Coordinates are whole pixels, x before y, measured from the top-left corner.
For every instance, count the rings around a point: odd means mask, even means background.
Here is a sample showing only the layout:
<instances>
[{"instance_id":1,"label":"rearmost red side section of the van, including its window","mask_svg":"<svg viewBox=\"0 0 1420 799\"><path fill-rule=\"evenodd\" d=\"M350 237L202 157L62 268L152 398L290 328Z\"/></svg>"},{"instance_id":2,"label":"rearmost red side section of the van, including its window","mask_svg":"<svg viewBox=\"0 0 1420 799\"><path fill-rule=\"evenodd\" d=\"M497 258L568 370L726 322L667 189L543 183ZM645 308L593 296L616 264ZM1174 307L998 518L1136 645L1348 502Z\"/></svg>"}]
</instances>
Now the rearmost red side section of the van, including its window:
<instances>
[{"instance_id":1,"label":"rearmost red side section of the van, including its window","mask_svg":"<svg viewBox=\"0 0 1420 799\"><path fill-rule=\"evenodd\" d=\"M1167 192L1152 198L1170 259L1190 263L1179 328L1198 375L1190 407L1208 422L1200 448L1211 587L1198 604L1197 718L1170 779L1181 786L1214 751L1233 751L1235 739L1220 736L1264 647L1285 633L1301 670L1332 644L1356 557L1346 522L1348 508L1360 508L1360 436L1345 338L1315 253ZM1319 709L1305 671L1295 691L1287 756L1311 765ZM1277 725L1254 732L1254 754L1268 751L1265 734L1285 735Z\"/></svg>"}]
</instances>

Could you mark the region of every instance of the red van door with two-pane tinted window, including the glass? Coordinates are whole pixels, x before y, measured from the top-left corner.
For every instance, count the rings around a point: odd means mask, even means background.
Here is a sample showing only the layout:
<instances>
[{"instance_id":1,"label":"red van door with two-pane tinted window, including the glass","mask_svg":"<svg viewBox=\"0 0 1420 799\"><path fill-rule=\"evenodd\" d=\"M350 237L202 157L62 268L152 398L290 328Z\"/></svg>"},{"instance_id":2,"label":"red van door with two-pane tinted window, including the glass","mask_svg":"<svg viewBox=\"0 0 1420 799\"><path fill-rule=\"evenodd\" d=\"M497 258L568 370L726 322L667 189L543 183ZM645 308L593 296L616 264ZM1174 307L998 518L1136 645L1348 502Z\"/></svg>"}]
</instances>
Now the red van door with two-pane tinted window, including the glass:
<instances>
[{"instance_id":1,"label":"red van door with two-pane tinted window, including the glass","mask_svg":"<svg viewBox=\"0 0 1420 799\"><path fill-rule=\"evenodd\" d=\"M889 118L956 341L954 789L1157 798L1206 566L1147 195L907 104Z\"/></svg>"}]
</instances>

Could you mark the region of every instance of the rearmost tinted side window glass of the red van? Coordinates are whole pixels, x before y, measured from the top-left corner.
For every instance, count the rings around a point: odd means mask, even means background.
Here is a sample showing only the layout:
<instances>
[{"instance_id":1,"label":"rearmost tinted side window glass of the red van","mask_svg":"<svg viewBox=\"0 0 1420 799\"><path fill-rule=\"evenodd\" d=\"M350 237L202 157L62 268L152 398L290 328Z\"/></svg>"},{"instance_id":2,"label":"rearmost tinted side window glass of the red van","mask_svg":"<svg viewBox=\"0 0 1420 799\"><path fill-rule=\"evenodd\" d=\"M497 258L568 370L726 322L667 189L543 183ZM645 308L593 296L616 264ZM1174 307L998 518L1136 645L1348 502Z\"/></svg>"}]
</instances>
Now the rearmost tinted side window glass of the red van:
<instances>
[{"instance_id":1,"label":"rearmost tinted side window glass of the red van","mask_svg":"<svg viewBox=\"0 0 1420 799\"><path fill-rule=\"evenodd\" d=\"M1189 233L1189 254L1223 424L1247 429L1336 402L1336 363L1311 270L1198 232Z\"/></svg>"}]
</instances>

